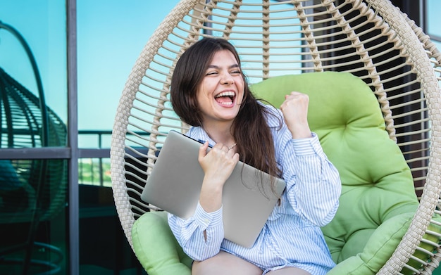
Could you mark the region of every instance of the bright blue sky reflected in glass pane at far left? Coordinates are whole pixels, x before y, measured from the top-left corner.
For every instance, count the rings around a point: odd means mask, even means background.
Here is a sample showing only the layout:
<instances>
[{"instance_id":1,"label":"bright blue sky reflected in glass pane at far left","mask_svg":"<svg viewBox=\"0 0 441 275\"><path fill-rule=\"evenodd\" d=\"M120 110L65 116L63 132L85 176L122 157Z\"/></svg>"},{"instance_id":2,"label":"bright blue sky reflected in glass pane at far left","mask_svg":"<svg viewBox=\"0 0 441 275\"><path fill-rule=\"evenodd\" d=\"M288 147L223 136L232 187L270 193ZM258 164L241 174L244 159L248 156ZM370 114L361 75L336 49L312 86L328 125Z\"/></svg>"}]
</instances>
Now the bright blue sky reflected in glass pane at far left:
<instances>
[{"instance_id":1,"label":"bright blue sky reflected in glass pane at far left","mask_svg":"<svg viewBox=\"0 0 441 275\"><path fill-rule=\"evenodd\" d=\"M56 105L63 105L58 110L61 117L66 117L66 73L63 73L66 68L66 29L62 24L66 15L59 12L63 6L63 1L53 1L49 6L41 5L41 1L1 1L0 20L15 28L27 41L42 76L46 103L55 109ZM37 93L34 72L23 46L10 32L0 31L1 68ZM56 41L56 46L49 48L48 41Z\"/></svg>"}]
</instances>

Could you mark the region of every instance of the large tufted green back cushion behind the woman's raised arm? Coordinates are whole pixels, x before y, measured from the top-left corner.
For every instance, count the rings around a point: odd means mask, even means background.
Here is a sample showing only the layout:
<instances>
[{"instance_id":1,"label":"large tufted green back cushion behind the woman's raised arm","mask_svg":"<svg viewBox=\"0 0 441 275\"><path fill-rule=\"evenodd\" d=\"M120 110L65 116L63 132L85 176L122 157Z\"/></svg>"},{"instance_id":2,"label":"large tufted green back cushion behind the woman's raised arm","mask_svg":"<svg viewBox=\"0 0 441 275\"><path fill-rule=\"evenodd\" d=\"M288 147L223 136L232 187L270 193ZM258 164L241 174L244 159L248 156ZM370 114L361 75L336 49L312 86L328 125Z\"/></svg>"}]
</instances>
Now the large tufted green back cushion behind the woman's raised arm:
<instances>
[{"instance_id":1,"label":"large tufted green back cushion behind the woman's raised arm","mask_svg":"<svg viewBox=\"0 0 441 275\"><path fill-rule=\"evenodd\" d=\"M350 263L335 274L378 270L406 232L418 200L371 89L349 73L313 72L272 77L251 90L277 108L291 91L309 95L311 131L342 180L340 207L322 229L333 260Z\"/></svg>"}]
</instances>

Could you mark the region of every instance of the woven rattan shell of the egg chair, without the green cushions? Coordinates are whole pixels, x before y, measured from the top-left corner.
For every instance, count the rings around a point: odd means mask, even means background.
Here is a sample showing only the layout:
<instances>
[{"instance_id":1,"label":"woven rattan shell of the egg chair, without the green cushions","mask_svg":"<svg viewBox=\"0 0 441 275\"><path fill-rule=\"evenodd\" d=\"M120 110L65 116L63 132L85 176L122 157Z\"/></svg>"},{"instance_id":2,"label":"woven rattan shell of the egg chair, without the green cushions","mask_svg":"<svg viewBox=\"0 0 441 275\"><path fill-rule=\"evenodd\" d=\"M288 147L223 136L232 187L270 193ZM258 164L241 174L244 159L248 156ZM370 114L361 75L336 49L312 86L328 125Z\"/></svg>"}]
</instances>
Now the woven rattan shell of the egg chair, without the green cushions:
<instances>
[{"instance_id":1,"label":"woven rattan shell of the egg chair, without the green cushions","mask_svg":"<svg viewBox=\"0 0 441 275\"><path fill-rule=\"evenodd\" d=\"M157 210L139 200L139 194L159 148L170 129L187 130L168 101L175 62L206 36L224 37L237 47L251 84L323 71L349 72L366 82L378 99L390 139L411 168L419 200L409 229L378 274L400 274L404 267L431 274L441 255L440 235L431 230L441 225L433 219L440 214L441 55L387 0L180 1L132 68L113 126L113 193L130 245L135 220ZM428 241L428 236L438 241ZM411 267L409 260L422 267Z\"/></svg>"}]
</instances>

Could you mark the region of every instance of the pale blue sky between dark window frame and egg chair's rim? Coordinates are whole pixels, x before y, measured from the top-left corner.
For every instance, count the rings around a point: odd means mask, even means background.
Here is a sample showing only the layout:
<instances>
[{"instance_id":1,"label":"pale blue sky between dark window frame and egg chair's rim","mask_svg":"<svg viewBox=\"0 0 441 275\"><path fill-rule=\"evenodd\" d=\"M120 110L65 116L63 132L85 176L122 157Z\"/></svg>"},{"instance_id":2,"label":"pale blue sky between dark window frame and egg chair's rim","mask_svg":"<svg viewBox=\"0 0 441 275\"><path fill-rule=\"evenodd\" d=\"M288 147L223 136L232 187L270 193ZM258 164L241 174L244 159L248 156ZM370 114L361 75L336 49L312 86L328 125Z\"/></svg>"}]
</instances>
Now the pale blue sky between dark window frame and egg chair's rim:
<instances>
[{"instance_id":1,"label":"pale blue sky between dark window frame and egg chair's rim","mask_svg":"<svg viewBox=\"0 0 441 275\"><path fill-rule=\"evenodd\" d=\"M77 1L79 103L83 110L98 110L90 112L93 121L88 111L79 115L82 129L111 129L118 99L135 60L176 3Z\"/></svg>"}]
</instances>

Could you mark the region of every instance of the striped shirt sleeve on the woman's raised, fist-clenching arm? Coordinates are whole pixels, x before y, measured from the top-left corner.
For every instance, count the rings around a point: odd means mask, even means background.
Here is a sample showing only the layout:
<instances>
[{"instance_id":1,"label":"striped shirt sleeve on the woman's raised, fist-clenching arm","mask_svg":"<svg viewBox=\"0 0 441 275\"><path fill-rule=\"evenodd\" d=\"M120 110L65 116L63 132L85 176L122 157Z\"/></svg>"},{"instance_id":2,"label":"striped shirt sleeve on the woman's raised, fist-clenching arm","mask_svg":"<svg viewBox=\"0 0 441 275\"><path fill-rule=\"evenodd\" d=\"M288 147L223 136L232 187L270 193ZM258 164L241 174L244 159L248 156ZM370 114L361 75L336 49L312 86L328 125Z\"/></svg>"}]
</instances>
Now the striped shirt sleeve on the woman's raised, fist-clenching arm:
<instances>
[{"instance_id":1,"label":"striped shirt sleeve on the woman's raised, fist-clenching arm","mask_svg":"<svg viewBox=\"0 0 441 275\"><path fill-rule=\"evenodd\" d=\"M292 139L282 131L280 165L287 187L287 198L294 212L317 226L334 217L341 193L340 175L328 160L318 136Z\"/></svg>"}]
</instances>

